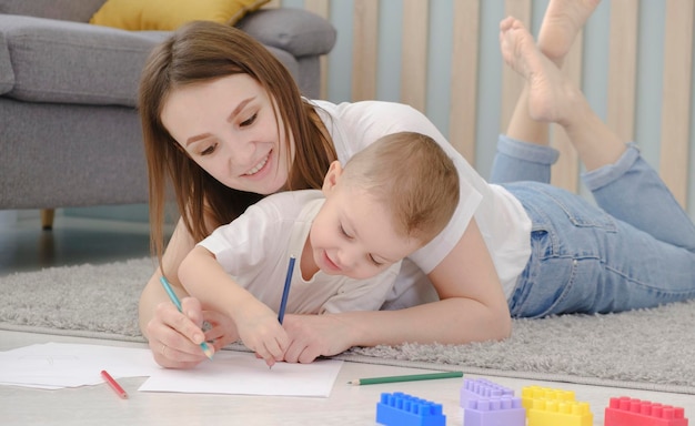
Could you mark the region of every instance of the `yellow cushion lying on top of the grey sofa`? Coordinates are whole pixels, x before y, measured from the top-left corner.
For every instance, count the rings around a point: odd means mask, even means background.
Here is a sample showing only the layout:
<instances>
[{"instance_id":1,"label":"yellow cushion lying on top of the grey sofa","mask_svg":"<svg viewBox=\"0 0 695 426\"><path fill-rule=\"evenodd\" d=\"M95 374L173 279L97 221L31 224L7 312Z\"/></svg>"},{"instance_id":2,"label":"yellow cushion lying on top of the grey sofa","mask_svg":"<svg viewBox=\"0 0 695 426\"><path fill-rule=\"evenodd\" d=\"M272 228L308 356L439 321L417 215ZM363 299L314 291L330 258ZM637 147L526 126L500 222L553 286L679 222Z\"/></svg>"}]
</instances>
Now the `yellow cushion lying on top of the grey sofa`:
<instances>
[{"instance_id":1,"label":"yellow cushion lying on top of the grey sofa","mask_svg":"<svg viewBox=\"0 0 695 426\"><path fill-rule=\"evenodd\" d=\"M233 26L270 0L108 0L89 23L131 31L172 31L205 20Z\"/></svg>"}]
</instances>

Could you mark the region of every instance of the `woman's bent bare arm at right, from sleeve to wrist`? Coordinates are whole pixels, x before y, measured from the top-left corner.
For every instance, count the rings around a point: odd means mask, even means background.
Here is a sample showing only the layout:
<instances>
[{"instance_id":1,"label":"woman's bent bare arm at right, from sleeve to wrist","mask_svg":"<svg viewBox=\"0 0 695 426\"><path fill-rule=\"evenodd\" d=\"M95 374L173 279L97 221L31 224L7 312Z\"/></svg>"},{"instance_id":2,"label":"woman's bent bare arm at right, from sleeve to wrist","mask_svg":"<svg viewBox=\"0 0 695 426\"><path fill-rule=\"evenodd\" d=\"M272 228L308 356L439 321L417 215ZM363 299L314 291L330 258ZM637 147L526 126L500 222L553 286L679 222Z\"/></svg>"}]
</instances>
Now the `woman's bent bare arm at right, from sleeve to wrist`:
<instances>
[{"instance_id":1,"label":"woman's bent bare arm at right, from sleeve to wrist","mask_svg":"<svg viewBox=\"0 0 695 426\"><path fill-rule=\"evenodd\" d=\"M475 220L427 277L439 302L353 318L359 344L462 344L510 335L507 302Z\"/></svg>"}]
</instances>

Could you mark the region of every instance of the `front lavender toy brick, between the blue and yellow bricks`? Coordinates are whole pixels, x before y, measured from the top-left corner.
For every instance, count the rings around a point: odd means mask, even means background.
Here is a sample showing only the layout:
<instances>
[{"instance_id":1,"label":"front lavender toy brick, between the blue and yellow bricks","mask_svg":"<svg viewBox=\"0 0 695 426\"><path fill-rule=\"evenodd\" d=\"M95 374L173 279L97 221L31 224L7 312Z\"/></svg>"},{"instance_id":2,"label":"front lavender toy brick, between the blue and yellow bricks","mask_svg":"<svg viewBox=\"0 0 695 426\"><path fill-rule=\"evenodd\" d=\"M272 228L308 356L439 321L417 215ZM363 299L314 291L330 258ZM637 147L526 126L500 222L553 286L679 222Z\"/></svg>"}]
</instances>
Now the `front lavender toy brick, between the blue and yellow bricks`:
<instances>
[{"instance_id":1,"label":"front lavender toy brick, between the blue and yellow bricks","mask_svg":"<svg viewBox=\"0 0 695 426\"><path fill-rule=\"evenodd\" d=\"M521 398L513 396L493 396L491 398L470 399L463 408L465 426L525 426L526 409Z\"/></svg>"}]
</instances>

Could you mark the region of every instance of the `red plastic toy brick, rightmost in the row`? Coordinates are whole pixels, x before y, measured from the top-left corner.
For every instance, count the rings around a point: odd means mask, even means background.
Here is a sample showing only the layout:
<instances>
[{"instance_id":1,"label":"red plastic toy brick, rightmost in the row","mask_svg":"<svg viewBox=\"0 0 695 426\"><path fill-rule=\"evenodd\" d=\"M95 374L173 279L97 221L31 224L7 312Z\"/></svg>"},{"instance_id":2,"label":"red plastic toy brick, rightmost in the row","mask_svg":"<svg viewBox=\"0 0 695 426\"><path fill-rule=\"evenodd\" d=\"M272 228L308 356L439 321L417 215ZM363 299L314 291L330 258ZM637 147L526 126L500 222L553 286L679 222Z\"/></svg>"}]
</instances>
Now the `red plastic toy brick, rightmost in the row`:
<instances>
[{"instance_id":1,"label":"red plastic toy brick, rightmost in the row","mask_svg":"<svg viewBox=\"0 0 695 426\"><path fill-rule=\"evenodd\" d=\"M611 398L605 426L687 426L682 407L628 398Z\"/></svg>"}]
</instances>

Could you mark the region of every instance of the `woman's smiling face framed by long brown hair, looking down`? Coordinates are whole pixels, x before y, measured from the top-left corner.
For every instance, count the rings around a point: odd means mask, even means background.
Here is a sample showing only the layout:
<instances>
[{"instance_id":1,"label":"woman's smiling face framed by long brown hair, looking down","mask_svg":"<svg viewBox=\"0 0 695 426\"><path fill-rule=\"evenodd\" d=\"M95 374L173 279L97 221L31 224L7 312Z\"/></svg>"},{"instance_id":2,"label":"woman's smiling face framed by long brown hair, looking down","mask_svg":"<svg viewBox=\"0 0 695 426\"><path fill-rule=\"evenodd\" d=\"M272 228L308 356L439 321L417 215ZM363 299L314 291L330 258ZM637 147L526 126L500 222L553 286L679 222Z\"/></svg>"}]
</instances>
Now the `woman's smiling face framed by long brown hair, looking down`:
<instances>
[{"instance_id":1,"label":"woman's smiling face framed by long brown hair, looking down","mask_svg":"<svg viewBox=\"0 0 695 426\"><path fill-rule=\"evenodd\" d=\"M282 122L275 112L253 78L234 74L175 89L161 118L171 136L214 179L266 195L285 185L292 155L279 134Z\"/></svg>"}]
</instances>

